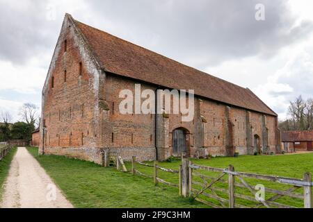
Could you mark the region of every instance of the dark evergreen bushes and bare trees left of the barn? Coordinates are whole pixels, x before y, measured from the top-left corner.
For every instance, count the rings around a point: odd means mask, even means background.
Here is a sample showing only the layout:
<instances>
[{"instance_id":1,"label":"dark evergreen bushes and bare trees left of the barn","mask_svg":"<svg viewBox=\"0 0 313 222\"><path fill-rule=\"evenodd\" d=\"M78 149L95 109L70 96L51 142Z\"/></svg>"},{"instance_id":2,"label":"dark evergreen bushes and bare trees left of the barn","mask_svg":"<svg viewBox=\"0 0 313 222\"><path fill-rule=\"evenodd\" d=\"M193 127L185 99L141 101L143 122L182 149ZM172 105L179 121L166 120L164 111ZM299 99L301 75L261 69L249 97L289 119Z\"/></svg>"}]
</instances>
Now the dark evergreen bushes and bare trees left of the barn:
<instances>
[{"instance_id":1,"label":"dark evergreen bushes and bare trees left of the barn","mask_svg":"<svg viewBox=\"0 0 313 222\"><path fill-rule=\"evenodd\" d=\"M24 103L19 110L21 121L12 123L10 112L0 112L0 142L10 139L31 139L31 133L39 126L38 107L33 103Z\"/></svg>"}]
</instances>

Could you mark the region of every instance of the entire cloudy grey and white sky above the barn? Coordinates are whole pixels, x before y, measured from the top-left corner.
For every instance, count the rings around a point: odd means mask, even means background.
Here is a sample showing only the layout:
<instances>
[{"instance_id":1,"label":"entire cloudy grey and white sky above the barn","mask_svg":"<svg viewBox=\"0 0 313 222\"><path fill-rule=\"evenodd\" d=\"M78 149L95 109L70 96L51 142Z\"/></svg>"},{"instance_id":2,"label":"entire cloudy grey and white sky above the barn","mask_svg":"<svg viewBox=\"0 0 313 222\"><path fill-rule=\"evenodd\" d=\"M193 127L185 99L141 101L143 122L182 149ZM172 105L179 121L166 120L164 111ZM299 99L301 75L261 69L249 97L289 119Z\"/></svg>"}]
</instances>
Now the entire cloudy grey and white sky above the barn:
<instances>
[{"instance_id":1,"label":"entire cloudy grey and white sky above the barn","mask_svg":"<svg viewBox=\"0 0 313 222\"><path fill-rule=\"evenodd\" d=\"M265 20L255 19L258 3L264 5ZM83 23L249 87L284 119L289 101L300 94L313 97L312 9L306 0L0 0L0 111L10 110L17 121L23 103L40 106L69 12Z\"/></svg>"}]
</instances>

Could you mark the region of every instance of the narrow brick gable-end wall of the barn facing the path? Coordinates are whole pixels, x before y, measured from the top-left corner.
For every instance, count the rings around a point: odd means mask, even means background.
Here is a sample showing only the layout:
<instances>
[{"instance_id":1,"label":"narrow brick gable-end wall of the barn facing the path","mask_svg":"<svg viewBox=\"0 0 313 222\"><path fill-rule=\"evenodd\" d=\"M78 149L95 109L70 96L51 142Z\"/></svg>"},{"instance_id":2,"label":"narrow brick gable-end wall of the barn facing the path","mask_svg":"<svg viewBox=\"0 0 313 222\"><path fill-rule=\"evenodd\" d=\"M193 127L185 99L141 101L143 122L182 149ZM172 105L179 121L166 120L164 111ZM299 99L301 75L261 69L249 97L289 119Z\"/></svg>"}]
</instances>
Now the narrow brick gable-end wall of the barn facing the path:
<instances>
[{"instance_id":1,"label":"narrow brick gable-end wall of the barn facing the path","mask_svg":"<svg viewBox=\"0 0 313 222\"><path fill-rule=\"evenodd\" d=\"M66 41L66 42L65 42ZM95 73L73 26L65 21L42 95L45 153L99 162ZM91 149L91 151L90 151ZM42 145L40 144L42 152Z\"/></svg>"}]
</instances>

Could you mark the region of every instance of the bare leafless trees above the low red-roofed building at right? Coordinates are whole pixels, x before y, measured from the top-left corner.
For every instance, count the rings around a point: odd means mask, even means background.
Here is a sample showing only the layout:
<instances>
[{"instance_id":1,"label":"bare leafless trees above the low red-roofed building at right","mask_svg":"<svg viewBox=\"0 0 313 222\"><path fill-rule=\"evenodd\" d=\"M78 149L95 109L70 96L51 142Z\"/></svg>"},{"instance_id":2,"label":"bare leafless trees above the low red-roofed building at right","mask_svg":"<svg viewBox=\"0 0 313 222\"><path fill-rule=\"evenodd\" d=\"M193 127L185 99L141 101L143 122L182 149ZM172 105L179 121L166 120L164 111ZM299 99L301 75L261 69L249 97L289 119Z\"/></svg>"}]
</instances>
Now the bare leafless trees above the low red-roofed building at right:
<instances>
[{"instance_id":1,"label":"bare leafless trees above the low red-roofed building at right","mask_svg":"<svg viewBox=\"0 0 313 222\"><path fill-rule=\"evenodd\" d=\"M284 131L313 130L313 99L304 100L298 96L290 101L288 118L280 121L279 128Z\"/></svg>"}]
</instances>

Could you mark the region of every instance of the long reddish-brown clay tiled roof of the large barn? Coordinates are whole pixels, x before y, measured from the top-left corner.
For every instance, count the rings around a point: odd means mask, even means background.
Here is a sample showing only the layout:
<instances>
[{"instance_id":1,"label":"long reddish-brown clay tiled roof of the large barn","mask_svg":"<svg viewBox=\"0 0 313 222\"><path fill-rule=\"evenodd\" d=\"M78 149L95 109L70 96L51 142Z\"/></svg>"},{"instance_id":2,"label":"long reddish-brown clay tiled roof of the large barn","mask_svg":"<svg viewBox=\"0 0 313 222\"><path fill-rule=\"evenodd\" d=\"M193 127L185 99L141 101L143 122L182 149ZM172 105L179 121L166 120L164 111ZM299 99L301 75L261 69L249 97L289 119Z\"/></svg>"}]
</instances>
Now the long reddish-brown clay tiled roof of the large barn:
<instances>
[{"instance_id":1,"label":"long reddish-brown clay tiled roof of the large barn","mask_svg":"<svg viewBox=\"0 0 313 222\"><path fill-rule=\"evenodd\" d=\"M106 71L171 89L194 89L198 96L277 115L250 89L182 65L81 22L75 23Z\"/></svg>"}]
</instances>

